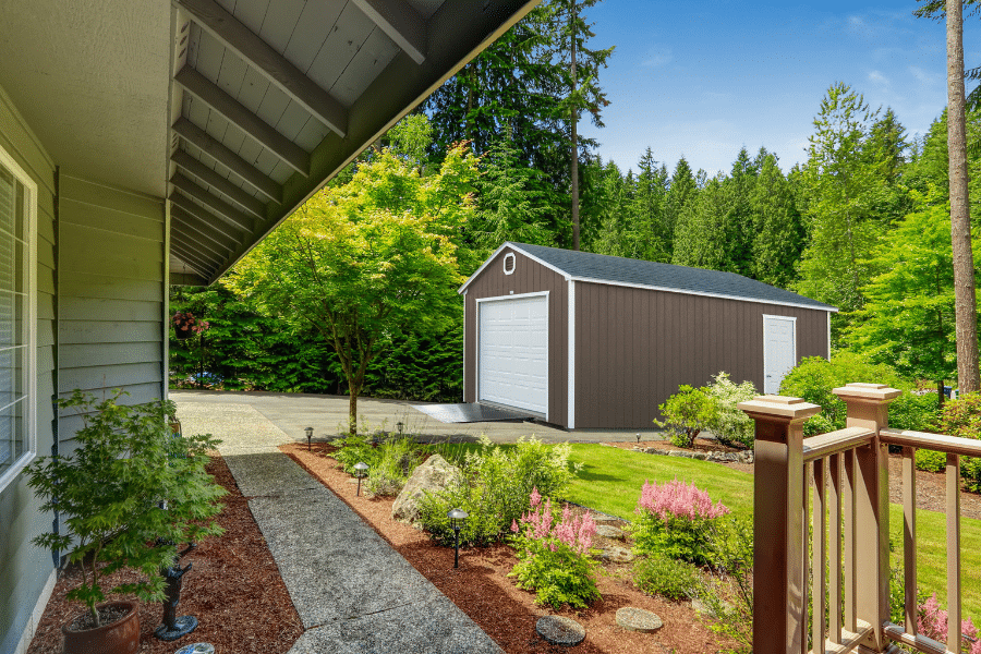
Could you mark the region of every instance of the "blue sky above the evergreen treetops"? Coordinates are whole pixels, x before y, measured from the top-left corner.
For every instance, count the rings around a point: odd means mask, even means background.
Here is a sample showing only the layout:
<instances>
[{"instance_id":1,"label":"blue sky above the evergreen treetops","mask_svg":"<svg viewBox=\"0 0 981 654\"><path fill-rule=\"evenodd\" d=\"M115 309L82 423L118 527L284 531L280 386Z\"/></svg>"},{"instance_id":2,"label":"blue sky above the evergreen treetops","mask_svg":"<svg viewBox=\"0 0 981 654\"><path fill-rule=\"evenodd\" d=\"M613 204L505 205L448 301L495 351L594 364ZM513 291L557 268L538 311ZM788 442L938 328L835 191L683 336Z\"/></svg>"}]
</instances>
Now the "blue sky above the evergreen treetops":
<instances>
[{"instance_id":1,"label":"blue sky above the evergreen treetops","mask_svg":"<svg viewBox=\"0 0 981 654\"><path fill-rule=\"evenodd\" d=\"M669 170L683 154L695 170L728 171L743 145L766 146L787 171L841 81L922 134L946 104L945 27L915 19L916 7L603 0L588 17L591 47L616 46L600 76L610 106L605 128L582 132L625 172L647 146ZM966 16L967 66L981 65L979 36L981 19Z\"/></svg>"}]
</instances>

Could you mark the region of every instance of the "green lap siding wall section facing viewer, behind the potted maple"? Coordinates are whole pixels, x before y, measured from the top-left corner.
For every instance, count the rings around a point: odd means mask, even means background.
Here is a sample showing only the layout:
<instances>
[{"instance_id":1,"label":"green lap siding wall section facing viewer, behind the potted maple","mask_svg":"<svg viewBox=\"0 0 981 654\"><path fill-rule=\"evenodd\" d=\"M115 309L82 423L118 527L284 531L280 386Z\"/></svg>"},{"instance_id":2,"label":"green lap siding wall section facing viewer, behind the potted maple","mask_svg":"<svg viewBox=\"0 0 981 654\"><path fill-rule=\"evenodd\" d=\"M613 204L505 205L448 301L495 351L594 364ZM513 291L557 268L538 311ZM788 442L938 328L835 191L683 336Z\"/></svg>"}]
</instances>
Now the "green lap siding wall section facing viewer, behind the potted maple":
<instances>
[{"instance_id":1,"label":"green lap siding wall section facing viewer, behind the potted maple","mask_svg":"<svg viewBox=\"0 0 981 654\"><path fill-rule=\"evenodd\" d=\"M60 179L59 393L166 395L166 213L160 198L62 174ZM71 449L80 419L64 414Z\"/></svg>"}]
</instances>

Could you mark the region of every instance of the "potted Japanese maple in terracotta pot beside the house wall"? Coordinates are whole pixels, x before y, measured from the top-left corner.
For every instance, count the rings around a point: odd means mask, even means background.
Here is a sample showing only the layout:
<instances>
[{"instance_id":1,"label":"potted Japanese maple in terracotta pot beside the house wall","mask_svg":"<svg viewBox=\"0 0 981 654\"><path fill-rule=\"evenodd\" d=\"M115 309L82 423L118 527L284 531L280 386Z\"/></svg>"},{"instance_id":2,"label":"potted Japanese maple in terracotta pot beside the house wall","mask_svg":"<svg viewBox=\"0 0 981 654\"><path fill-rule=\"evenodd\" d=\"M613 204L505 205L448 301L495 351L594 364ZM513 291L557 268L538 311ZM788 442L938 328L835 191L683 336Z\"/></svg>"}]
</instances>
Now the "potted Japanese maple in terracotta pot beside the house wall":
<instances>
[{"instance_id":1,"label":"potted Japanese maple in terracotta pot beside the house wall","mask_svg":"<svg viewBox=\"0 0 981 654\"><path fill-rule=\"evenodd\" d=\"M58 509L60 532L34 538L38 546L68 554L78 565L82 582L69 600L86 610L62 626L65 654L136 652L140 618L135 602L106 602L108 593L162 602L162 570L177 556L178 544L221 533L211 519L226 491L205 472L207 436L175 436L168 419L172 402L120 404L117 390L98 400L75 390L59 400L74 410L83 426L77 448L66 456L43 457L27 469L28 485L44 499L43 510ZM122 568L140 573L136 581L105 588Z\"/></svg>"}]
</instances>

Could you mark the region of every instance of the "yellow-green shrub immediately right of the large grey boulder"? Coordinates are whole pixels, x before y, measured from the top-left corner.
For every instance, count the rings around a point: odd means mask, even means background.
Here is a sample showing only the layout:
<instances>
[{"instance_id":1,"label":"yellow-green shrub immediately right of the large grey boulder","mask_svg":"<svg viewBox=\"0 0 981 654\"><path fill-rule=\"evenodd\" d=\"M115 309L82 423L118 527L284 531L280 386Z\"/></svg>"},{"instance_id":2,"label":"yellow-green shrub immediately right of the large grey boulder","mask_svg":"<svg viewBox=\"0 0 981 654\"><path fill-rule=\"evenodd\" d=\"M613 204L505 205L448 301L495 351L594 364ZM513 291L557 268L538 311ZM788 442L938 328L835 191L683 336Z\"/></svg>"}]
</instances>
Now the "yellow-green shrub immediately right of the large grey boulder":
<instances>
[{"instance_id":1,"label":"yellow-green shrub immediately right of the large grey boulder","mask_svg":"<svg viewBox=\"0 0 981 654\"><path fill-rule=\"evenodd\" d=\"M529 509L533 488L560 497L578 468L570 468L568 443L548 446L535 437L518 439L502 448L481 438L481 449L463 461L463 479L426 497L420 523L437 543L452 545L453 532L446 512L453 507L470 517L460 532L461 545L485 545L506 535L510 524Z\"/></svg>"}]
</instances>

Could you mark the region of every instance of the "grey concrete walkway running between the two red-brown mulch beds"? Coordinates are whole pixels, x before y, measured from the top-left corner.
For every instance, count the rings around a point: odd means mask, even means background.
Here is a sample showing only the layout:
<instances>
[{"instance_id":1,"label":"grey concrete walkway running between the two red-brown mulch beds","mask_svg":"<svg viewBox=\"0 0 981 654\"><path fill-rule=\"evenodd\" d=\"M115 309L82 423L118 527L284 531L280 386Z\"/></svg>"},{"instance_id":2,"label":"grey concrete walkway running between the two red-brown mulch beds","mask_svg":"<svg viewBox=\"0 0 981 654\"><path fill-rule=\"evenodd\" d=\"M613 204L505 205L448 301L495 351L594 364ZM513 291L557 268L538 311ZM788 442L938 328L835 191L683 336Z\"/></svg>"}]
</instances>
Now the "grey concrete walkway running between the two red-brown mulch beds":
<instances>
[{"instance_id":1,"label":"grey concrete walkway running between the two red-brown mulch beds","mask_svg":"<svg viewBox=\"0 0 981 654\"><path fill-rule=\"evenodd\" d=\"M289 654L502 654L348 505L277 449L298 439L294 423L305 426L306 414L277 409L294 432L288 434L250 402L197 395L171 397L186 433L223 440L221 455L303 621Z\"/></svg>"}]
</instances>

